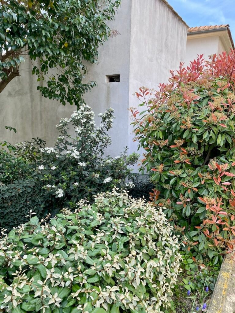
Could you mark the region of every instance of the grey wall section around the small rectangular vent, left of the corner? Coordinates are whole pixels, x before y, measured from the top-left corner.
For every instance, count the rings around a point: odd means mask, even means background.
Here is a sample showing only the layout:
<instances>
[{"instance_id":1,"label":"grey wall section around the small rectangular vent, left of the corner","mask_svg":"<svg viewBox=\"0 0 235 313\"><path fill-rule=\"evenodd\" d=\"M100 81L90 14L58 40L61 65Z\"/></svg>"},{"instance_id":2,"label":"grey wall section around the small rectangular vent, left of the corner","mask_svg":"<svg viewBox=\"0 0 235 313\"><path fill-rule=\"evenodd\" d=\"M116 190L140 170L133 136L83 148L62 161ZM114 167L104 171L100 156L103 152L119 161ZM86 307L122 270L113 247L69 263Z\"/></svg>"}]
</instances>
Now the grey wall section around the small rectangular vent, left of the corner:
<instances>
[{"instance_id":1,"label":"grey wall section around the small rectangular vent, left of the corner","mask_svg":"<svg viewBox=\"0 0 235 313\"><path fill-rule=\"evenodd\" d=\"M105 45L99 48L98 64L88 64L87 80L96 81L97 87L84 96L86 103L92 107L95 115L111 107L116 116L109 132L112 136L112 146L106 151L111 156L117 156L123 151L123 147L128 145L131 5L131 0L122 1L115 20L109 24L111 29L117 29L120 34L109 38ZM120 74L119 83L106 81L106 75L112 74Z\"/></svg>"}]
</instances>

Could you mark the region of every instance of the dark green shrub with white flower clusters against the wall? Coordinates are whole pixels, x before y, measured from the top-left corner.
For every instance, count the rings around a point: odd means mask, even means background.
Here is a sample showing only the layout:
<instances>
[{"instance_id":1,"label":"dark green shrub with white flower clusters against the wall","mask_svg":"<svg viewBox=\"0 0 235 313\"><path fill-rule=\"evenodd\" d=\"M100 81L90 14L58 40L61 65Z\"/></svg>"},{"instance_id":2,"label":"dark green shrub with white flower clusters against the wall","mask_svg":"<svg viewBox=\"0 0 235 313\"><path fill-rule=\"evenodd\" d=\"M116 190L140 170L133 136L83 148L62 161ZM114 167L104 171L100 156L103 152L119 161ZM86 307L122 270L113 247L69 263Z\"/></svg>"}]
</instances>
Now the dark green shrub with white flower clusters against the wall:
<instances>
[{"instance_id":1,"label":"dark green shrub with white flower clusters against the wall","mask_svg":"<svg viewBox=\"0 0 235 313\"><path fill-rule=\"evenodd\" d=\"M85 104L70 119L60 120L55 147L41 148L41 160L35 163L35 177L44 182L45 194L63 199L64 205L72 208L83 197L92 199L93 194L114 184L124 184L139 155L128 156L124 149L116 158L105 156L105 149L112 144L107 132L112 128L113 112L109 108L99 114L99 127L91 107Z\"/></svg>"}]
</instances>

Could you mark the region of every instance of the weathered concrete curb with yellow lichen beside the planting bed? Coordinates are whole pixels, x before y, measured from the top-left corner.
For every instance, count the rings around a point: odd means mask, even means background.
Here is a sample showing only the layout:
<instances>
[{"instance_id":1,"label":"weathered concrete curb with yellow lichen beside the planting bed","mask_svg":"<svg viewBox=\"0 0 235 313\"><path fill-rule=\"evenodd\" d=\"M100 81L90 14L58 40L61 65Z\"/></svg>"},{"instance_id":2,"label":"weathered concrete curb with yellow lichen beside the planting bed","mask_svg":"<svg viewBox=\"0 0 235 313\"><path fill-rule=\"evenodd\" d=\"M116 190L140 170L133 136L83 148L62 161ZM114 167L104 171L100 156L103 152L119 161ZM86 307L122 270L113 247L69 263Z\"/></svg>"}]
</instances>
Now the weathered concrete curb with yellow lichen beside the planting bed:
<instances>
[{"instance_id":1,"label":"weathered concrete curb with yellow lichen beside the planting bed","mask_svg":"<svg viewBox=\"0 0 235 313\"><path fill-rule=\"evenodd\" d=\"M225 304L228 290L230 290L230 288L234 288L233 290L235 293L235 286L230 286L229 284L231 275L234 272L235 272L235 251L225 255L223 259L223 263L221 265L219 276L217 278L212 299L210 301L210 305L206 313L227 313L226 312L227 309L225 309Z\"/></svg>"}]
</instances>

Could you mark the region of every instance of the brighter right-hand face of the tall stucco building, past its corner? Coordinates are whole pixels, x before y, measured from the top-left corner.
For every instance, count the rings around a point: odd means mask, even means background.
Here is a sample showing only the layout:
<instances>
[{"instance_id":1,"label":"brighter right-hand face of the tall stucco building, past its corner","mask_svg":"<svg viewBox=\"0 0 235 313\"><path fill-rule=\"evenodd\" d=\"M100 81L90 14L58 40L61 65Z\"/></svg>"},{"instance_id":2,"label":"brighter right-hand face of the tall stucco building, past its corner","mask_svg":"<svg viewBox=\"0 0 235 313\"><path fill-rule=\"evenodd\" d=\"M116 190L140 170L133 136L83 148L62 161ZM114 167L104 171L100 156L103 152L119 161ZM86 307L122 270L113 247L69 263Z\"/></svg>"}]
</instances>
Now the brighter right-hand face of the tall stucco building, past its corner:
<instances>
[{"instance_id":1,"label":"brighter right-hand face of the tall stucco building, past its corner","mask_svg":"<svg viewBox=\"0 0 235 313\"><path fill-rule=\"evenodd\" d=\"M139 87L157 90L159 83L168 82L169 70L179 68L185 59L187 29L161 0L145 1L144 7L142 0L132 1L129 107L140 103L132 95ZM133 152L137 142L133 142L130 122L129 119L128 146Z\"/></svg>"}]
</instances>

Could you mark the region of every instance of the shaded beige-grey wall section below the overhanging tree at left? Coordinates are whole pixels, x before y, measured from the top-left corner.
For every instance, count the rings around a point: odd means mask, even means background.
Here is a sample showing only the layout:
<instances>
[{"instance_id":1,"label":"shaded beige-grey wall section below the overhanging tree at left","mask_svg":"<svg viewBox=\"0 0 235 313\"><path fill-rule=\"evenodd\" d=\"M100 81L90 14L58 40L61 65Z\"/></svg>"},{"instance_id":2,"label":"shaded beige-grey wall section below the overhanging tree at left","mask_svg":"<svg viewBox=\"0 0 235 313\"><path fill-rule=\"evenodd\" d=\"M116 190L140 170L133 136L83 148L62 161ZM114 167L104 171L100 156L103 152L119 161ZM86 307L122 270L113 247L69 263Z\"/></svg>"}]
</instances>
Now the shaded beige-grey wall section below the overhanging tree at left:
<instances>
[{"instance_id":1,"label":"shaded beige-grey wall section below the overhanging tree at left","mask_svg":"<svg viewBox=\"0 0 235 313\"><path fill-rule=\"evenodd\" d=\"M75 107L63 106L41 95L37 90L37 76L32 75L30 58L20 69L21 76L15 77L0 94L0 140L14 144L39 137L46 139L48 146L53 146L57 136L55 125L61 117L69 117ZM17 132L6 130L8 125Z\"/></svg>"}]
</instances>

